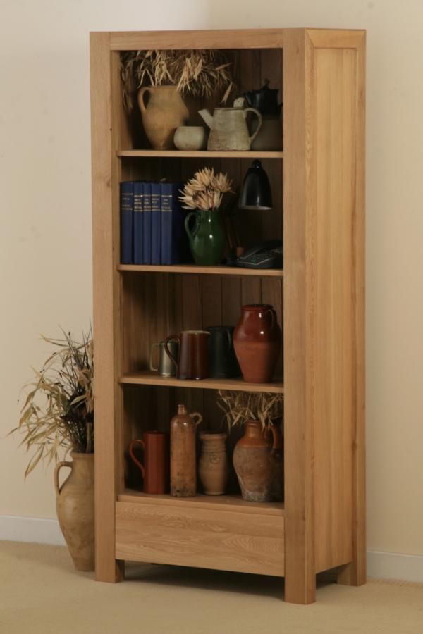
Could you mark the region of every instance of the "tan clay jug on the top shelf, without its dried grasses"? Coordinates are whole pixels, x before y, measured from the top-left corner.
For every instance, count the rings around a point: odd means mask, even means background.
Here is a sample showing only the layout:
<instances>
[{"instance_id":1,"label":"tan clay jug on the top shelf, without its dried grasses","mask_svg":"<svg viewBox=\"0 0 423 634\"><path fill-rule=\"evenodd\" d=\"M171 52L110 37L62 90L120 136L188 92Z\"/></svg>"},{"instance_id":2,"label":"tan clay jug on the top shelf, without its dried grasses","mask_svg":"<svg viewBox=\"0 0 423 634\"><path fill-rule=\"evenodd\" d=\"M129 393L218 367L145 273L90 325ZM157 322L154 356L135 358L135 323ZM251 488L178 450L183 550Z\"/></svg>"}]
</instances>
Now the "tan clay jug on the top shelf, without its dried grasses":
<instances>
[{"instance_id":1,"label":"tan clay jug on the top shelf, without its dried grasses","mask_svg":"<svg viewBox=\"0 0 423 634\"><path fill-rule=\"evenodd\" d=\"M145 105L144 96L149 94ZM173 137L188 123L189 112L176 86L145 86L138 93L145 134L153 149L175 149Z\"/></svg>"}]
</instances>

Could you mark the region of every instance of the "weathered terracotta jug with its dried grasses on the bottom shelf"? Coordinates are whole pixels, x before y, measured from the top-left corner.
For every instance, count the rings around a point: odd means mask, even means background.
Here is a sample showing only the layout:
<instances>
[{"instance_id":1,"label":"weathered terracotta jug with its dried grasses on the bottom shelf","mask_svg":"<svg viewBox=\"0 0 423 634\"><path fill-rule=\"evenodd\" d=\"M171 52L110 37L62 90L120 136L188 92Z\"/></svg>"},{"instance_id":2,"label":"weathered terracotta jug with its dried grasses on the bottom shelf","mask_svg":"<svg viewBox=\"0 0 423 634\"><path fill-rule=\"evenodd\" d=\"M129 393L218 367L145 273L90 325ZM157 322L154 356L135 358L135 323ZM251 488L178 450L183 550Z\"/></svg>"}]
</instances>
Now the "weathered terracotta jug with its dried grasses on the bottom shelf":
<instances>
[{"instance_id":1,"label":"weathered terracotta jug with its dried grasses on the bottom shelf","mask_svg":"<svg viewBox=\"0 0 423 634\"><path fill-rule=\"evenodd\" d=\"M245 423L245 435L233 451L233 467L243 499L283 499L283 394L219 390L217 404L229 427Z\"/></svg>"}]
</instances>

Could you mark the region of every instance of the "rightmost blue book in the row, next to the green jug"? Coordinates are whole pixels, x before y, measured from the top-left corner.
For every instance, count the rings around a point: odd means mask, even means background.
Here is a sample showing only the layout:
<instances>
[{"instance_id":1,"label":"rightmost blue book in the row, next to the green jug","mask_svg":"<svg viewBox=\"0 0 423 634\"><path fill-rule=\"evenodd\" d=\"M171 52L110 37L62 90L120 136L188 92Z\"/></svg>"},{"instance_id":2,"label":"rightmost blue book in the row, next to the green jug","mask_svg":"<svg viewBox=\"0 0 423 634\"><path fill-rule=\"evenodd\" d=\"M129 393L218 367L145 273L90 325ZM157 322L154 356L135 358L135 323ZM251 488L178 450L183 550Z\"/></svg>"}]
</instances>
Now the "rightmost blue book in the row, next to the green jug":
<instances>
[{"instance_id":1,"label":"rightmost blue book in the row, next to the green jug","mask_svg":"<svg viewBox=\"0 0 423 634\"><path fill-rule=\"evenodd\" d=\"M185 217L178 196L183 182L161 183L161 263L188 264L193 261L190 242L185 231Z\"/></svg>"}]
</instances>

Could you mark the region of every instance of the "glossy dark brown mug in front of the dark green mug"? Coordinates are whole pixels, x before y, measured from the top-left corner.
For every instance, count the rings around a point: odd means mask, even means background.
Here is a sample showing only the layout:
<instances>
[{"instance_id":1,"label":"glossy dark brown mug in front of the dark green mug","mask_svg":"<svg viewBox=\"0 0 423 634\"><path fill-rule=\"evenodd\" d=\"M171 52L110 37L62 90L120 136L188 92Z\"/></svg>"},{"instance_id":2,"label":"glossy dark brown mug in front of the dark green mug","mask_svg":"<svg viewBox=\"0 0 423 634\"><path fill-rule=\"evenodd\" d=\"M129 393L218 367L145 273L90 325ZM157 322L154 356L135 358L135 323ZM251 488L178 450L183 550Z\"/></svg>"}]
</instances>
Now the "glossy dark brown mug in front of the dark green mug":
<instances>
[{"instance_id":1,"label":"glossy dark brown mug in front of the dark green mug","mask_svg":"<svg viewBox=\"0 0 423 634\"><path fill-rule=\"evenodd\" d=\"M176 366L176 376L180 379L203 379L210 377L209 351L206 330L183 330L178 335L170 335L164 342L166 354ZM168 349L168 342L176 339L179 344L179 359L176 361Z\"/></svg>"}]
</instances>

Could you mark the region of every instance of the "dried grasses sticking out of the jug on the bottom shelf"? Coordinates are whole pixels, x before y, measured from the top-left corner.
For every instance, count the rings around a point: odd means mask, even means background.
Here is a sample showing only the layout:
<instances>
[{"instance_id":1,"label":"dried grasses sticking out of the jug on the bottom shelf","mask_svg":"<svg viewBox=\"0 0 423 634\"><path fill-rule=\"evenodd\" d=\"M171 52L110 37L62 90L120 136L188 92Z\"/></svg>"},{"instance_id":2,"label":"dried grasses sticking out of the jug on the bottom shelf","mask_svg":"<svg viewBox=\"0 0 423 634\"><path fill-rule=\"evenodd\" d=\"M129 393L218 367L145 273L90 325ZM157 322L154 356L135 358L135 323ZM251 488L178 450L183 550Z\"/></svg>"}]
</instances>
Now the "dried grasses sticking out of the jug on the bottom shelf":
<instances>
[{"instance_id":1,"label":"dried grasses sticking out of the jug on the bottom shelf","mask_svg":"<svg viewBox=\"0 0 423 634\"><path fill-rule=\"evenodd\" d=\"M217 404L229 428L245 421L260 421L263 428L283 418L283 394L218 390Z\"/></svg>"}]
</instances>

